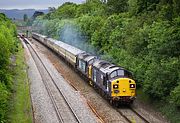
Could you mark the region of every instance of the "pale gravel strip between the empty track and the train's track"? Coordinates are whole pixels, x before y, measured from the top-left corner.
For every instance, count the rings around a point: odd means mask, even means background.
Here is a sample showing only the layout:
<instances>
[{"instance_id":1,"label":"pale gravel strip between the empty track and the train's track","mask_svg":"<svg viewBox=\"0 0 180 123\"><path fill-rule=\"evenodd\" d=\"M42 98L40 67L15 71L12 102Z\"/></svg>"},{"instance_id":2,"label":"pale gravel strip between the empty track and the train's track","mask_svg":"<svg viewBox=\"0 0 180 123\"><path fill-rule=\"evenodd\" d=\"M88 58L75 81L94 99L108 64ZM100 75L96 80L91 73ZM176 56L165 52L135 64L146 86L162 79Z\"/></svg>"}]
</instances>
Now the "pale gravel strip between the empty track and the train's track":
<instances>
[{"instance_id":1,"label":"pale gravel strip between the empty track and the train's track","mask_svg":"<svg viewBox=\"0 0 180 123\"><path fill-rule=\"evenodd\" d=\"M43 63L48 69L50 75L52 76L54 82L58 86L61 93L65 96L70 106L76 113L77 117L81 122L95 123L97 122L97 117L94 116L93 112L87 105L87 103L82 99L79 92L75 91L65 79L60 75L60 73L54 68L51 62L44 57L43 54L39 53L39 56L43 59ZM67 115L68 116L68 115Z\"/></svg>"}]
</instances>

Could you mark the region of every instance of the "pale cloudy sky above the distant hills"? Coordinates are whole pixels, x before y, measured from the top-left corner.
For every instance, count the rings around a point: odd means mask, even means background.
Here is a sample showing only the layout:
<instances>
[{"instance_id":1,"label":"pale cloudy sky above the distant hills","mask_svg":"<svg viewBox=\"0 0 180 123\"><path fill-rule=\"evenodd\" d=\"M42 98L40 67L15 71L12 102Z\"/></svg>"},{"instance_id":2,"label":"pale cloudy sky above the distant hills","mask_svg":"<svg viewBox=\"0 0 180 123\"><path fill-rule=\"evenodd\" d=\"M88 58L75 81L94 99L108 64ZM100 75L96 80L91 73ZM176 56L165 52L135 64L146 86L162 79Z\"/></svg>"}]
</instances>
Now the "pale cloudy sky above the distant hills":
<instances>
[{"instance_id":1,"label":"pale cloudy sky above the distant hills","mask_svg":"<svg viewBox=\"0 0 180 123\"><path fill-rule=\"evenodd\" d=\"M85 0L0 0L0 9L47 9L65 2L82 3Z\"/></svg>"}]
</instances>

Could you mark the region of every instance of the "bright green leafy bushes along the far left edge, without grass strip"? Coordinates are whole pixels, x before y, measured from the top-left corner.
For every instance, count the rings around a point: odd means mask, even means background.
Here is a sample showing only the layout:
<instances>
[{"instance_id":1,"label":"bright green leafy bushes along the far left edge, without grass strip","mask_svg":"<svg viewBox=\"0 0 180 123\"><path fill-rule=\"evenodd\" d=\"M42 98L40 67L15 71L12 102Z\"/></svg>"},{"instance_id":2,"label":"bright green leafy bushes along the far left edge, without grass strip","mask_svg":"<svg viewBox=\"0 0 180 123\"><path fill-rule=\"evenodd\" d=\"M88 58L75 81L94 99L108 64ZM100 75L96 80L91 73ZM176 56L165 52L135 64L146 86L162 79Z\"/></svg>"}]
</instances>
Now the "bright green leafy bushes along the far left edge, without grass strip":
<instances>
[{"instance_id":1,"label":"bright green leafy bushes along the far left edge, without grass strip","mask_svg":"<svg viewBox=\"0 0 180 123\"><path fill-rule=\"evenodd\" d=\"M15 52L15 26L0 14L0 121L5 122L8 111L8 100L12 92L12 75L10 56Z\"/></svg>"}]
</instances>

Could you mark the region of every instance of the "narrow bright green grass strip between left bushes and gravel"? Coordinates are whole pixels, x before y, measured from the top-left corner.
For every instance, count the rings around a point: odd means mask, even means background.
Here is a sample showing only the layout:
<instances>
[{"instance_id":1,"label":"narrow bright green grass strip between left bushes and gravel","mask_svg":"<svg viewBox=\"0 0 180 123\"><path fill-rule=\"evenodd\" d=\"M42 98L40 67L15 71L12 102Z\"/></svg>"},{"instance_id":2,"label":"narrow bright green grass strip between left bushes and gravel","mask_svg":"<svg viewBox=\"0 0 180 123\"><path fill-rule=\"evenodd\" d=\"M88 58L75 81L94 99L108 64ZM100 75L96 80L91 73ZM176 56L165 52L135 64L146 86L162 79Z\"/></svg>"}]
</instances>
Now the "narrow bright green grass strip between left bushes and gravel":
<instances>
[{"instance_id":1,"label":"narrow bright green grass strip between left bushes and gravel","mask_svg":"<svg viewBox=\"0 0 180 123\"><path fill-rule=\"evenodd\" d=\"M31 99L29 93L28 77L24 50L19 44L14 67L14 88L10 100L9 121L11 123L32 123Z\"/></svg>"}]
</instances>

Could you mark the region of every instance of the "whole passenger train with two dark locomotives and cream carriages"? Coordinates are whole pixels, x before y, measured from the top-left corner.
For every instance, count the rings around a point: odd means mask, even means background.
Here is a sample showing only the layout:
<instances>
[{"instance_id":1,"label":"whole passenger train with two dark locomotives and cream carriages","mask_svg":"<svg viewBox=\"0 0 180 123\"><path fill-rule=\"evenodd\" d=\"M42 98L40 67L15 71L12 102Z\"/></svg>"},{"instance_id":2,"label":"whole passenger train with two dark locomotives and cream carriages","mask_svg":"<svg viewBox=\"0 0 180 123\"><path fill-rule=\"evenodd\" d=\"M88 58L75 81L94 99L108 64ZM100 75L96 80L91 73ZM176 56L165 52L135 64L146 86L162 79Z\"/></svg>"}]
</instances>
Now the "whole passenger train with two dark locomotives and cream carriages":
<instances>
[{"instance_id":1,"label":"whole passenger train with two dark locomotives and cream carriages","mask_svg":"<svg viewBox=\"0 0 180 123\"><path fill-rule=\"evenodd\" d=\"M32 38L68 62L111 105L132 104L136 99L136 82L130 71L62 41L38 33L32 33Z\"/></svg>"}]
</instances>

